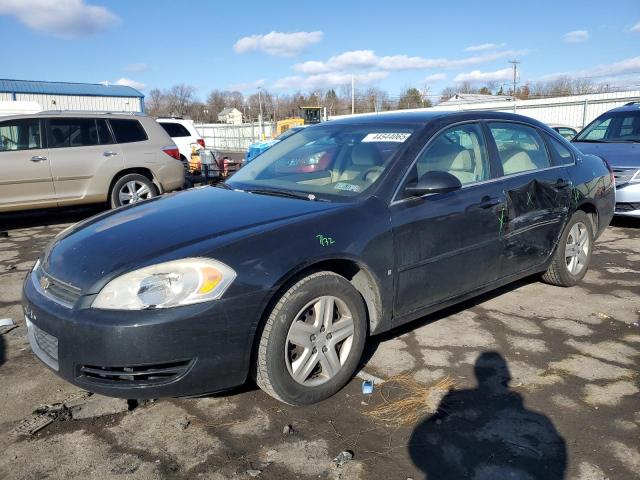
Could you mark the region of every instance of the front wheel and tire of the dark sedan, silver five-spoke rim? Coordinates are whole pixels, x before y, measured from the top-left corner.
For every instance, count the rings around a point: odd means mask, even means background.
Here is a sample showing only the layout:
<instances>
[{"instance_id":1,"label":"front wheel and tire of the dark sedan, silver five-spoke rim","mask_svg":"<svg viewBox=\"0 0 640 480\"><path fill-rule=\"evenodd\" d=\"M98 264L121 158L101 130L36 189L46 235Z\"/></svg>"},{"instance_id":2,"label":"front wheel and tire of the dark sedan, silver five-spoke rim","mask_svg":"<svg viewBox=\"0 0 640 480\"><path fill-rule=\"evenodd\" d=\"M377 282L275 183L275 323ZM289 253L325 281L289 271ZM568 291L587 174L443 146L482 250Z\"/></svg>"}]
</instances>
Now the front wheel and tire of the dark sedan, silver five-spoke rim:
<instances>
[{"instance_id":1,"label":"front wheel and tire of the dark sedan, silver five-spoke rim","mask_svg":"<svg viewBox=\"0 0 640 480\"><path fill-rule=\"evenodd\" d=\"M289 405L329 398L353 376L364 350L367 316L344 277L318 272L289 288L266 321L256 383Z\"/></svg>"}]
</instances>

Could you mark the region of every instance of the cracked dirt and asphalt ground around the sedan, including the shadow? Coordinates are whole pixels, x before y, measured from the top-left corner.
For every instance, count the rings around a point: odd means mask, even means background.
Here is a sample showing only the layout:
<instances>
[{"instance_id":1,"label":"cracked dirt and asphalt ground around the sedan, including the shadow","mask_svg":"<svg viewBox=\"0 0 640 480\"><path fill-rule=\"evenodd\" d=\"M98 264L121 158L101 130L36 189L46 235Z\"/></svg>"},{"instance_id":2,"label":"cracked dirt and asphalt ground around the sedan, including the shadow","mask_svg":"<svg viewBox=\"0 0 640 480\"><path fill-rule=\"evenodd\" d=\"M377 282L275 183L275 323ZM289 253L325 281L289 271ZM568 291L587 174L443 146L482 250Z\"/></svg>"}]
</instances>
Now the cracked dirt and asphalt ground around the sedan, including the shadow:
<instances>
[{"instance_id":1,"label":"cracked dirt and asphalt ground around the sedan, including the shadow","mask_svg":"<svg viewBox=\"0 0 640 480\"><path fill-rule=\"evenodd\" d=\"M361 376L395 380L293 408L251 384L136 405L42 365L22 281L93 213L0 220L0 478L640 478L640 222L607 229L579 287L530 279L373 338Z\"/></svg>"}]
</instances>

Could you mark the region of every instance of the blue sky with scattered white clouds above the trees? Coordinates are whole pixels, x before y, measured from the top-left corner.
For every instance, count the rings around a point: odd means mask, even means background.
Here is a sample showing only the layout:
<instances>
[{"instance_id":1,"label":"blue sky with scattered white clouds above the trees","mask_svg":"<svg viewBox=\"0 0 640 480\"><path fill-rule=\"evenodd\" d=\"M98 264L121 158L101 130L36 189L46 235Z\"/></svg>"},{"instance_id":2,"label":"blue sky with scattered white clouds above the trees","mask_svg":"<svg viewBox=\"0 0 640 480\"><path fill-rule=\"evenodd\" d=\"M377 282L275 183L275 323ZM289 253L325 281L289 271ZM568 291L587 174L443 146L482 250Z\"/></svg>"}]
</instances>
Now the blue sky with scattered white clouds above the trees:
<instances>
[{"instance_id":1,"label":"blue sky with scattered white clouds above the trees","mask_svg":"<svg viewBox=\"0 0 640 480\"><path fill-rule=\"evenodd\" d=\"M275 33L271 33L275 32ZM640 88L638 0L535 2L0 0L0 77L187 83L253 93L360 87L437 94L559 74Z\"/></svg>"}]
</instances>

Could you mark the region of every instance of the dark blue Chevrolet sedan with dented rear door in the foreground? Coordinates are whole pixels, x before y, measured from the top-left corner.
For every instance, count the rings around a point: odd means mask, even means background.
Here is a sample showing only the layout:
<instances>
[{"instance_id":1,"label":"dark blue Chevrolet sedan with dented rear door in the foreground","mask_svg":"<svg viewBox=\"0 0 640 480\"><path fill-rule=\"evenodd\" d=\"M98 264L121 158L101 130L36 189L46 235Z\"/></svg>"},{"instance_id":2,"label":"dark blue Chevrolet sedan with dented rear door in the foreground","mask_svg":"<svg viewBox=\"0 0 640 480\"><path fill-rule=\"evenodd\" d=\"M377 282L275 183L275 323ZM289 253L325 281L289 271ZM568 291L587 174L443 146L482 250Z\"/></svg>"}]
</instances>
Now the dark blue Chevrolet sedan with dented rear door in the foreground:
<instances>
[{"instance_id":1,"label":"dark blue Chevrolet sedan with dented rear door in the foreground","mask_svg":"<svg viewBox=\"0 0 640 480\"><path fill-rule=\"evenodd\" d=\"M318 148L322 169L279 173ZM333 120L218 187L56 238L24 283L31 347L105 395L197 395L252 374L310 404L349 381L369 335L533 274L577 284L613 204L606 163L526 117Z\"/></svg>"}]
</instances>

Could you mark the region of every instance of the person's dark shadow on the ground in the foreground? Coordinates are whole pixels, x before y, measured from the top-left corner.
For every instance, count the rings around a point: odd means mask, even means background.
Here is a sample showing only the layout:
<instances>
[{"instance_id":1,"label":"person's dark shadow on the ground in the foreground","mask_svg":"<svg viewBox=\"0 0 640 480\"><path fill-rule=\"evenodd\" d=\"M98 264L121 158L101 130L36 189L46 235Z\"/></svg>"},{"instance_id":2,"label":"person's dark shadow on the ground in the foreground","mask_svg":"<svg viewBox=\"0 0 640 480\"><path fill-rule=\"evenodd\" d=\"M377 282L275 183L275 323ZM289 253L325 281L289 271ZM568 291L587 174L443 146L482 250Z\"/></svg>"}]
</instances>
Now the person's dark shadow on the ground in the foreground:
<instances>
[{"instance_id":1,"label":"person's dark shadow on the ground in the foreground","mask_svg":"<svg viewBox=\"0 0 640 480\"><path fill-rule=\"evenodd\" d=\"M484 352L474 368L477 387L449 391L413 431L413 463L428 480L563 479L565 441L549 418L527 410L509 389L502 355Z\"/></svg>"}]
</instances>

